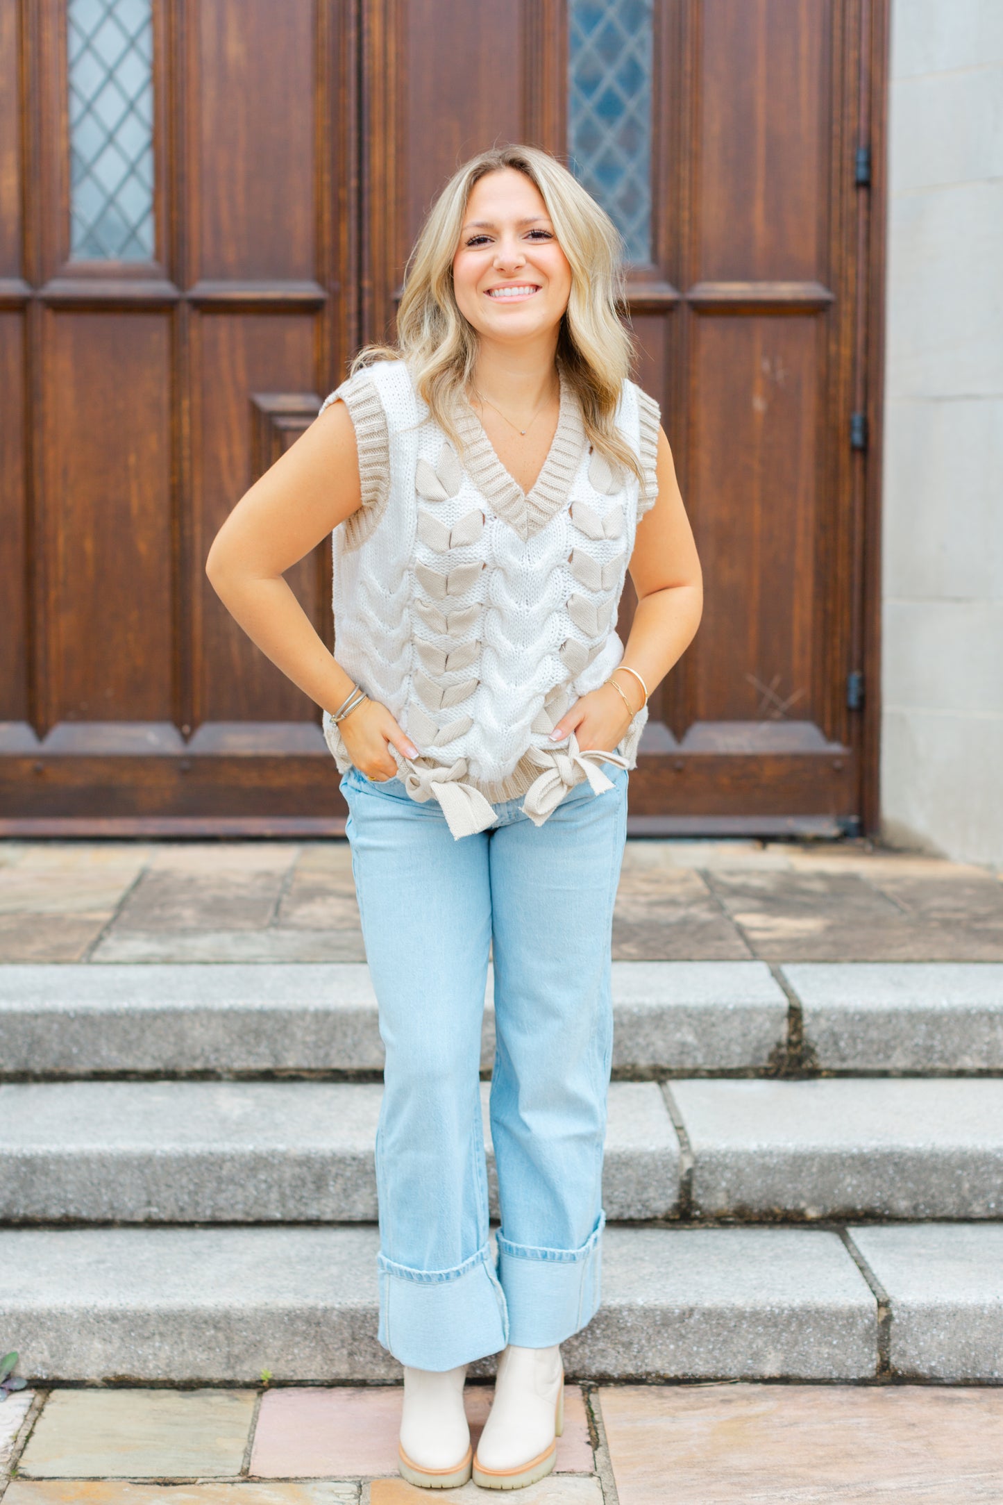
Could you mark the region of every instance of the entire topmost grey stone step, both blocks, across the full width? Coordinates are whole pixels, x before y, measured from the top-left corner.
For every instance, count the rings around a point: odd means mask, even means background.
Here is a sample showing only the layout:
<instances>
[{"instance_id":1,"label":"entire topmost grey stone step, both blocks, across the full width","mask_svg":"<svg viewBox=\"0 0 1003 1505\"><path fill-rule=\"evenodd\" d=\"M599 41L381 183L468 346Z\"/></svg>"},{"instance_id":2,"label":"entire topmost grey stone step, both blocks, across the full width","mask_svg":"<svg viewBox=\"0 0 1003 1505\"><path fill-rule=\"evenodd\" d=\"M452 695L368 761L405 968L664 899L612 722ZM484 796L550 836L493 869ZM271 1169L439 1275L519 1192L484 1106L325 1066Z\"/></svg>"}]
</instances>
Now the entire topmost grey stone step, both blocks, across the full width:
<instances>
[{"instance_id":1,"label":"entire topmost grey stone step, both blocks, across the full width","mask_svg":"<svg viewBox=\"0 0 1003 1505\"><path fill-rule=\"evenodd\" d=\"M1003 1072L1003 965L806 962L783 981L824 1072ZM615 962L618 1075L759 1072L788 1043L764 962ZM483 1064L493 1055L489 975ZM0 1072L377 1072L362 962L0 966Z\"/></svg>"}]
</instances>

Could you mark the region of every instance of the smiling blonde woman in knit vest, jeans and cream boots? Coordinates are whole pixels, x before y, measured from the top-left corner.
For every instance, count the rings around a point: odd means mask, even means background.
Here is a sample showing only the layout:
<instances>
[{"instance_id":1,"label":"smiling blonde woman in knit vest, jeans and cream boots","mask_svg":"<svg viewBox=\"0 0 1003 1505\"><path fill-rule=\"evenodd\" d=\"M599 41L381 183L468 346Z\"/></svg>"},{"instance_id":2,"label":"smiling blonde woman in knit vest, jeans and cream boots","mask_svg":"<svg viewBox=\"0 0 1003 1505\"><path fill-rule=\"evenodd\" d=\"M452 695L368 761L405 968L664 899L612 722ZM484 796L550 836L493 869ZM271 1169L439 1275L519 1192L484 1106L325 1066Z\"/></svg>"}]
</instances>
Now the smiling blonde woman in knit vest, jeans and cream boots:
<instances>
[{"instance_id":1,"label":"smiling blonde woman in knit vest, jeans and cream boots","mask_svg":"<svg viewBox=\"0 0 1003 1505\"><path fill-rule=\"evenodd\" d=\"M559 1344L598 1306L627 775L701 616L659 409L627 379L618 253L546 152L466 163L412 253L398 348L356 358L206 566L325 709L343 775L386 1047L379 1341L405 1367L400 1472L429 1488L553 1467ZM337 659L283 579L329 531ZM466 1367L499 1350L472 1457Z\"/></svg>"}]
</instances>

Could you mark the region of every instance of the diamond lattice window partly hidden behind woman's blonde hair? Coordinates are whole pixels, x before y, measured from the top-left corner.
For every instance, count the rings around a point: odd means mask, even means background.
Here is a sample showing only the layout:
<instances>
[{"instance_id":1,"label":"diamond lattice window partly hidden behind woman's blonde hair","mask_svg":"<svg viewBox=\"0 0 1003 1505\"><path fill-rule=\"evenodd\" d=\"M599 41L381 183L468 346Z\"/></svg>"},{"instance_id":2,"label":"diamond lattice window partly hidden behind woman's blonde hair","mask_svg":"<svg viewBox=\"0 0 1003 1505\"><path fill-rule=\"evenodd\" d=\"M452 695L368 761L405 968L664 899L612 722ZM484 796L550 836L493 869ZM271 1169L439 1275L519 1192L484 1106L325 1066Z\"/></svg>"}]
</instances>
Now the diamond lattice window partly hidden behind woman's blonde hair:
<instances>
[{"instance_id":1,"label":"diamond lattice window partly hidden behind woman's blonde hair","mask_svg":"<svg viewBox=\"0 0 1003 1505\"><path fill-rule=\"evenodd\" d=\"M627 242L651 260L653 0L570 0L571 170Z\"/></svg>"}]
</instances>

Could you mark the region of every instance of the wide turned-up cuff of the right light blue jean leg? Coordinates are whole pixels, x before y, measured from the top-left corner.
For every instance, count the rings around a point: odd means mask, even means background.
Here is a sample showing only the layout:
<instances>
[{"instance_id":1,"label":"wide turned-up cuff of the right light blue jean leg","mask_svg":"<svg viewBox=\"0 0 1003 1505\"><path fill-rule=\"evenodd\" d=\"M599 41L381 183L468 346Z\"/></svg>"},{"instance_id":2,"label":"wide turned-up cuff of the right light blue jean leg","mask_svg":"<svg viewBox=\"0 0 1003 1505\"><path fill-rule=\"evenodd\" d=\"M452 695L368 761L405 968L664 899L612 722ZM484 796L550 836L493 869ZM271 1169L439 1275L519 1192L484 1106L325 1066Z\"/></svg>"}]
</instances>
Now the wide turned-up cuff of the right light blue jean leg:
<instances>
[{"instance_id":1,"label":"wide turned-up cuff of the right light blue jean leg","mask_svg":"<svg viewBox=\"0 0 1003 1505\"><path fill-rule=\"evenodd\" d=\"M498 1234L498 1278L510 1314L508 1342L550 1348L598 1309L606 1213L580 1249L534 1249Z\"/></svg>"}]
</instances>

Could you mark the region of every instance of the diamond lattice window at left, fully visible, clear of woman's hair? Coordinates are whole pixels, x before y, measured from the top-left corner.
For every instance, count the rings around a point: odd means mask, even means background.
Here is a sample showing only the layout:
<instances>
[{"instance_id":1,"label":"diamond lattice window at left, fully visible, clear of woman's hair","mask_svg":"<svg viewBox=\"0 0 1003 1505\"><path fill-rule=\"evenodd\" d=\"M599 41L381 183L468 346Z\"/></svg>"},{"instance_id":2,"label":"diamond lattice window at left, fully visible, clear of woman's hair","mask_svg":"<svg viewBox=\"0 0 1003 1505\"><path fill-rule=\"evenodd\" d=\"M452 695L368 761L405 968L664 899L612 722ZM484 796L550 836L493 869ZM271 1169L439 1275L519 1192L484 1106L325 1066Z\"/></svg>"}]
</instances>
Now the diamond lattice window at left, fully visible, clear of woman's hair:
<instances>
[{"instance_id":1,"label":"diamond lattice window at left, fully visible, clear of woman's hair","mask_svg":"<svg viewBox=\"0 0 1003 1505\"><path fill-rule=\"evenodd\" d=\"M152 0L68 0L69 254L153 259Z\"/></svg>"}]
</instances>

